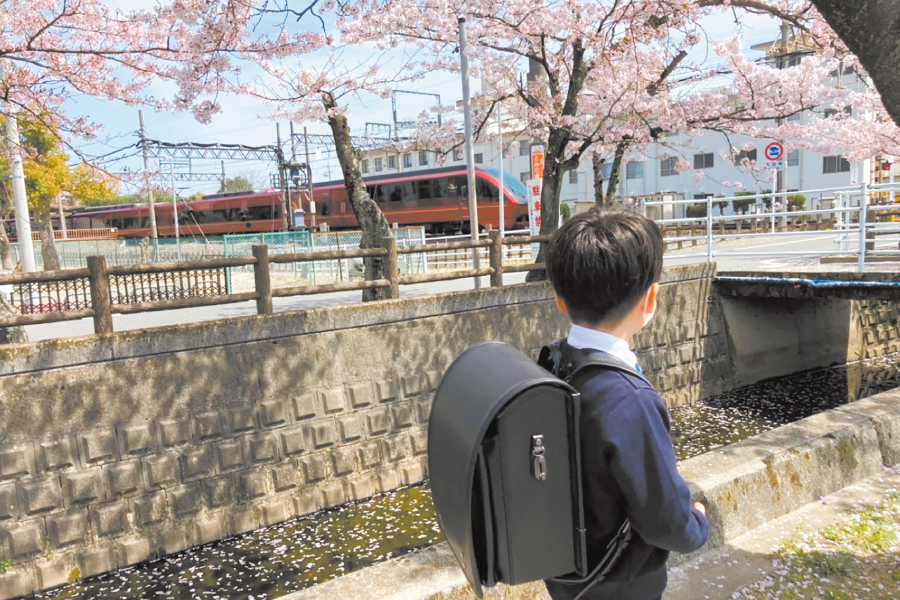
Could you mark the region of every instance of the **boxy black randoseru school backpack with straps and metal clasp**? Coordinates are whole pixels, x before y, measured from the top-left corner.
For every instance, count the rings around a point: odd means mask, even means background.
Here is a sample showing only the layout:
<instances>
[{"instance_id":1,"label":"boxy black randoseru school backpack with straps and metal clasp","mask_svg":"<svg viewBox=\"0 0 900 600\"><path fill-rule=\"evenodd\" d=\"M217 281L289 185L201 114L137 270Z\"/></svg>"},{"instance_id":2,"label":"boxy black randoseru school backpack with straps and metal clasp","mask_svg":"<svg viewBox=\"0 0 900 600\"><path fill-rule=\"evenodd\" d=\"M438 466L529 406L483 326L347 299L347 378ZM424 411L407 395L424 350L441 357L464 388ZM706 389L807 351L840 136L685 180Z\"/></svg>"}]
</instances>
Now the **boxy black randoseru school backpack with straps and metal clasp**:
<instances>
[{"instance_id":1,"label":"boxy black randoseru school backpack with straps and metal clasp","mask_svg":"<svg viewBox=\"0 0 900 600\"><path fill-rule=\"evenodd\" d=\"M563 357L564 350L565 357ZM561 362L565 359L565 364ZM602 580L631 537L626 521L588 573L579 410L567 380L586 366L634 373L608 354L556 340L543 368L512 346L472 346L444 373L428 425L428 471L447 541L475 594L576 573ZM592 557L592 562L597 557Z\"/></svg>"}]
</instances>

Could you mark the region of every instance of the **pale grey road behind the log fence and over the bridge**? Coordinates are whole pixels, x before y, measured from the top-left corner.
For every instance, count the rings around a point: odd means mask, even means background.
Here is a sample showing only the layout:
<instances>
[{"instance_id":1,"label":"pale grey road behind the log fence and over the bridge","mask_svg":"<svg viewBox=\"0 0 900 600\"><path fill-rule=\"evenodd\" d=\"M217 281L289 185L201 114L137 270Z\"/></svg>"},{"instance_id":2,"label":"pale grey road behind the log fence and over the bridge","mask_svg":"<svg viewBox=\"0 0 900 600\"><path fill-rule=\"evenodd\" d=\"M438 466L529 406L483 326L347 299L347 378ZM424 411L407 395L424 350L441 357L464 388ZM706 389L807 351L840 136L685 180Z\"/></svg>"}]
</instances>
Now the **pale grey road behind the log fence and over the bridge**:
<instances>
[{"instance_id":1,"label":"pale grey road behind the log fence and over the bridge","mask_svg":"<svg viewBox=\"0 0 900 600\"><path fill-rule=\"evenodd\" d=\"M822 232L821 235L809 235L802 238L741 238L716 241L713 244L713 260L719 271L773 271L773 272L843 272L856 271L856 262L843 264L821 264L815 252L830 252L837 249L836 234ZM849 249L855 250L856 243L850 243ZM880 236L876 243L876 250L897 250L898 236ZM787 256L728 256L729 252L760 252L798 253ZM684 248L668 252L665 257L667 266L693 264L706 261L706 245L701 243L693 248ZM896 262L878 262L867 264L867 271L890 272L900 270L900 256ZM482 285L487 286L487 277L482 278ZM525 280L524 273L514 273L504 277L504 283L522 283ZM427 294L440 294L445 292L469 290L473 288L472 279L457 279L453 281L437 281L406 285L400 288L403 298L422 296ZM297 296L294 298L275 298L273 305L275 312L287 312L303 310L307 308L337 306L359 302L359 291L334 292L330 294L318 294L315 296ZM184 323L196 323L200 321L215 321L233 317L243 317L256 314L254 302L241 302L223 306L209 306L203 308L186 308L178 310L143 313L136 315L114 315L113 327L116 331L129 329L143 329L147 327L160 327L164 325L179 325ZM81 319L63 323L48 323L44 325L29 325L26 328L28 339L31 341L75 337L91 335L93 333L93 321Z\"/></svg>"}]
</instances>

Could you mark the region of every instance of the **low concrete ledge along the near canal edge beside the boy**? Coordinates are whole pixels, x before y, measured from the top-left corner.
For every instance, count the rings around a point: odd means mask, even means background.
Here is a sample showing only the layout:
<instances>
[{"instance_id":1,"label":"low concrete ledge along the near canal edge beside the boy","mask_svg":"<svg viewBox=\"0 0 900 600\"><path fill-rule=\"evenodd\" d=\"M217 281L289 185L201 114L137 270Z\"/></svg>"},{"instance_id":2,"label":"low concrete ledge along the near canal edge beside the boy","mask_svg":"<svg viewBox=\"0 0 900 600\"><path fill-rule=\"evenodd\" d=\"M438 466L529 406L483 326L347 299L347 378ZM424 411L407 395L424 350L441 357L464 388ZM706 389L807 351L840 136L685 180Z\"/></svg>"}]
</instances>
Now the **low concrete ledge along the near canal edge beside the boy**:
<instances>
[{"instance_id":1,"label":"low concrete ledge along the near canal edge beside the boy","mask_svg":"<svg viewBox=\"0 0 900 600\"><path fill-rule=\"evenodd\" d=\"M900 463L900 391L873 396L683 461L709 502L710 540L675 566ZM486 598L548 600L542 583L497 586ZM285 596L289 600L475 598L449 546L404 556Z\"/></svg>"}]
</instances>

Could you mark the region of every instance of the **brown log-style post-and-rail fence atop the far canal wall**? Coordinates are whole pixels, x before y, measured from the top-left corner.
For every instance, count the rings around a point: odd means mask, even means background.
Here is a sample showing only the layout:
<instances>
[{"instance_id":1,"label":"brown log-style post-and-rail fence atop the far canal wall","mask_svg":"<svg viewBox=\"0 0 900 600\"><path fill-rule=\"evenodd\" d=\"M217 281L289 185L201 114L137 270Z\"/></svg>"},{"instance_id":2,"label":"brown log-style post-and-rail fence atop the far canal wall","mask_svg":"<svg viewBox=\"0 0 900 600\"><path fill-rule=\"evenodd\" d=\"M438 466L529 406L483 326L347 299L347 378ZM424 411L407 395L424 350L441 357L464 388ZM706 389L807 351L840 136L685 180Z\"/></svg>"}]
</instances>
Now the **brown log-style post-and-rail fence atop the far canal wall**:
<instances>
[{"instance_id":1,"label":"brown log-style post-and-rail fence atop the far canal wall","mask_svg":"<svg viewBox=\"0 0 900 600\"><path fill-rule=\"evenodd\" d=\"M111 333L114 314L215 306L249 300L256 301L258 314L272 314L273 298L377 287L383 288L386 298L390 299L400 297L401 285L466 277L490 276L490 285L496 287L503 285L504 273L544 268L542 263L504 267L504 246L545 242L549 239L550 236L501 238L499 231L489 231L488 239L398 248L397 240L389 236L383 238L381 248L270 255L267 246L255 245L252 257L128 266L109 266L106 257L89 256L87 269L0 275L0 287L12 288L13 305L24 313L0 316L0 327L92 317L95 333ZM399 254L474 248L487 248L489 266L400 276L397 260ZM381 259L385 263L386 276L376 280L272 287L270 265L344 258ZM229 294L225 286L225 269L241 266L254 267L254 291Z\"/></svg>"}]
</instances>

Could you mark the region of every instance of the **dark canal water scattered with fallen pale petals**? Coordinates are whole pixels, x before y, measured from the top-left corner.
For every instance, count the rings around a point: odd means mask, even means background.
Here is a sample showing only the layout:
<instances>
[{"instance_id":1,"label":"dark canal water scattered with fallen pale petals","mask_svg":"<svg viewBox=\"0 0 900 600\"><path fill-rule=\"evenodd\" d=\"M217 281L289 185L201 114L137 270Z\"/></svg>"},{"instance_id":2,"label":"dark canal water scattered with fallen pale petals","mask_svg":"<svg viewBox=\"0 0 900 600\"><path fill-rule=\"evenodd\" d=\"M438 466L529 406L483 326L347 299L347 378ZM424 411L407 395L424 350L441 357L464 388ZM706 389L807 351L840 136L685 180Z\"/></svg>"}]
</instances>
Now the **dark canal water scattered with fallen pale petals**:
<instances>
[{"instance_id":1,"label":"dark canal water scattered with fallen pale petals","mask_svg":"<svg viewBox=\"0 0 900 600\"><path fill-rule=\"evenodd\" d=\"M807 371L674 408L679 460L900 386L900 354ZM36 598L268 600L443 539L426 485L142 563Z\"/></svg>"}]
</instances>

